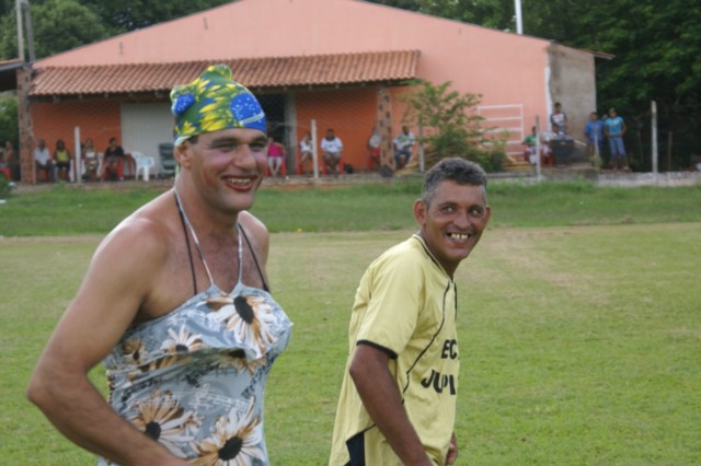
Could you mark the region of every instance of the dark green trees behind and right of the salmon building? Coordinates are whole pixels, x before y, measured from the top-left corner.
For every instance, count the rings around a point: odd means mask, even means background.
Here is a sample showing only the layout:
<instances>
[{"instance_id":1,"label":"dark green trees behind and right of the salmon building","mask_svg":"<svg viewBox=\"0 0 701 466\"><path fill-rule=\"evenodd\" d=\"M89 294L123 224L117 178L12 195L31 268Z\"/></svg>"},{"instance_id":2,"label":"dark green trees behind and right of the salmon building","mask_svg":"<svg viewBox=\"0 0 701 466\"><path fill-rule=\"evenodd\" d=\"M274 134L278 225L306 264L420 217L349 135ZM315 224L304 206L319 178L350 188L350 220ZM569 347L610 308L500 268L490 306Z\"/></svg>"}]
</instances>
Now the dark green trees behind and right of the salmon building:
<instances>
[{"instance_id":1,"label":"dark green trees behind and right of the salmon building","mask_svg":"<svg viewBox=\"0 0 701 466\"><path fill-rule=\"evenodd\" d=\"M379 0L388 7L516 31L514 0ZM671 131L677 167L701 145L701 3L688 0L522 0L524 34L610 54L597 59L597 102L624 115L634 152L648 151L651 101L660 137ZM635 135L633 135L635 133Z\"/></svg>"}]
</instances>

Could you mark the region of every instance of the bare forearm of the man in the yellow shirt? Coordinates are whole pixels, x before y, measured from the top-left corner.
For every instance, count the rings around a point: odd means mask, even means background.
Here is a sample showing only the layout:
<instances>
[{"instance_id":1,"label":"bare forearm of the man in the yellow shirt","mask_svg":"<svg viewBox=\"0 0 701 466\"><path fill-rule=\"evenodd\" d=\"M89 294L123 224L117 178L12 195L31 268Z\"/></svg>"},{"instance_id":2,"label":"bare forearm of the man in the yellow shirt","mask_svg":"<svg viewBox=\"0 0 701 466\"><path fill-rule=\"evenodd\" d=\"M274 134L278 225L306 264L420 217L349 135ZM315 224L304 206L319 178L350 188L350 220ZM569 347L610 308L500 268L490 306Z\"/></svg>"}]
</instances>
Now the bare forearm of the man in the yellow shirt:
<instances>
[{"instance_id":1,"label":"bare forearm of the man in the yellow shirt","mask_svg":"<svg viewBox=\"0 0 701 466\"><path fill-rule=\"evenodd\" d=\"M384 351L360 343L350 362L350 377L368 413L402 462L430 466L433 463L406 416L388 363L389 354Z\"/></svg>"}]
</instances>

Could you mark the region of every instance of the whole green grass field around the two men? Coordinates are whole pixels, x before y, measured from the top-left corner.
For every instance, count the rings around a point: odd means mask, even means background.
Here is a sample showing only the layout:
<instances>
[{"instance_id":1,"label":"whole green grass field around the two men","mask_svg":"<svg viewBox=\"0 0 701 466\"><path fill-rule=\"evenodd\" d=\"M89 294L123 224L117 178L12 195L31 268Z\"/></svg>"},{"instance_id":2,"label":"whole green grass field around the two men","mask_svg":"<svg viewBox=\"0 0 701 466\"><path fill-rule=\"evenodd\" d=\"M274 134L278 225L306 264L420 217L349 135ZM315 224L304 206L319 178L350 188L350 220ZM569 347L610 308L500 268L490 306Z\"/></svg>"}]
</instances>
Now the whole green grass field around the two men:
<instances>
[{"instance_id":1,"label":"whole green grass field around the two men","mask_svg":"<svg viewBox=\"0 0 701 466\"><path fill-rule=\"evenodd\" d=\"M299 209L272 236L273 292L295 322L267 387L274 465L325 464L355 287L374 257L413 231L411 218L354 228L370 222L358 218L368 210L410 215L411 186L374 189L258 198L268 224L278 209ZM119 196L108 198L104 219L142 201ZM5 209L21 200L0 207L0 464L94 464L24 388L101 236L36 231L64 221L55 215L49 226L36 221L31 236L9 237L8 222L21 215ZM53 202L34 201L28 210ZM701 189L495 184L490 202L493 228L456 277L458 464L701 464ZM80 209L66 215L89 224ZM99 370L93 376L104 386Z\"/></svg>"}]
</instances>

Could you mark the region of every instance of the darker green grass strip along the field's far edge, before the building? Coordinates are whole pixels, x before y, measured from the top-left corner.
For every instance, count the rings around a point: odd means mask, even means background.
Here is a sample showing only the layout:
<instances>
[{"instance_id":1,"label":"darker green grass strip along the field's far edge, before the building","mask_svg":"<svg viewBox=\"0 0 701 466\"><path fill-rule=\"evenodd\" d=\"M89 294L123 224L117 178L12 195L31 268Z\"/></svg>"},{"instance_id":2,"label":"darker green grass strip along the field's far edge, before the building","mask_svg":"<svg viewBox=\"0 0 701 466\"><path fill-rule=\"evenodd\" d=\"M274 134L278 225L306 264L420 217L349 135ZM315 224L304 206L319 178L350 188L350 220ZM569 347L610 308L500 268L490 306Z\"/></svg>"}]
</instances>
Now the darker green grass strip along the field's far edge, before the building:
<instances>
[{"instance_id":1,"label":"darker green grass strip along the field's far edge, before the building","mask_svg":"<svg viewBox=\"0 0 701 466\"><path fill-rule=\"evenodd\" d=\"M141 184L91 189L56 185L13 195L0 205L0 236L106 234L166 189ZM290 190L264 187L253 212L271 232L377 231L413 228L417 179ZM530 185L494 180L492 228L607 225L701 221L701 184L597 188L589 182Z\"/></svg>"}]
</instances>

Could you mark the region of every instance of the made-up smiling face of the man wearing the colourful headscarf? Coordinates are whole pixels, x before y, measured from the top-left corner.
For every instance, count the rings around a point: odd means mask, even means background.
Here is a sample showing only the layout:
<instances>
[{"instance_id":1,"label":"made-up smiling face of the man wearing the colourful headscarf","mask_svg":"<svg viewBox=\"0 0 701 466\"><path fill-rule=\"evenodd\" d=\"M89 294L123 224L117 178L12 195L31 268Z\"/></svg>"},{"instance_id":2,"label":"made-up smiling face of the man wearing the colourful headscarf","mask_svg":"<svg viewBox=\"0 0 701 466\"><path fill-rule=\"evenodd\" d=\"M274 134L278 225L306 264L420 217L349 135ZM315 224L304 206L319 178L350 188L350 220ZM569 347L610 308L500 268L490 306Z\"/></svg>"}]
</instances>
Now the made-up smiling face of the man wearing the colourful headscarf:
<instances>
[{"instance_id":1,"label":"made-up smiling face of the man wearing the colourful headscarf","mask_svg":"<svg viewBox=\"0 0 701 466\"><path fill-rule=\"evenodd\" d=\"M183 175L207 207L238 213L250 209L267 163L267 138L252 128L206 132L177 148Z\"/></svg>"}]
</instances>

